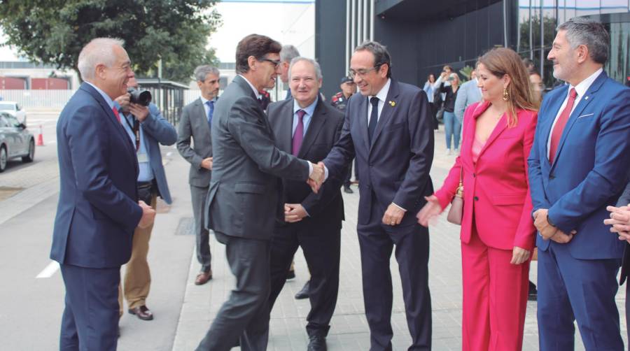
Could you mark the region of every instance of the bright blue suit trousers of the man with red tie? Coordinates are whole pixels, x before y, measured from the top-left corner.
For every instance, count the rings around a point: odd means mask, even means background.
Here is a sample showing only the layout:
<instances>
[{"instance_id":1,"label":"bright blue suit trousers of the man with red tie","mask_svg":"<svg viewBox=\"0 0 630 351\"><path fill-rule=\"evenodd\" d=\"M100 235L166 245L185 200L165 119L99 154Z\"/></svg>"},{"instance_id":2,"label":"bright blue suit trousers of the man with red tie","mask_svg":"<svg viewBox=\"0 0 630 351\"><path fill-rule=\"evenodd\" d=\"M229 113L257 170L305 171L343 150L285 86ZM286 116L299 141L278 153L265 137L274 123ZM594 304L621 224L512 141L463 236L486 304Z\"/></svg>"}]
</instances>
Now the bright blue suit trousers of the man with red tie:
<instances>
[{"instance_id":1,"label":"bright blue suit trousers of the man with red tie","mask_svg":"<svg viewBox=\"0 0 630 351\"><path fill-rule=\"evenodd\" d=\"M620 263L620 259L575 259L567 245L554 242L548 250L538 250L541 351L573 350L576 320L586 350L624 350L615 303Z\"/></svg>"}]
</instances>

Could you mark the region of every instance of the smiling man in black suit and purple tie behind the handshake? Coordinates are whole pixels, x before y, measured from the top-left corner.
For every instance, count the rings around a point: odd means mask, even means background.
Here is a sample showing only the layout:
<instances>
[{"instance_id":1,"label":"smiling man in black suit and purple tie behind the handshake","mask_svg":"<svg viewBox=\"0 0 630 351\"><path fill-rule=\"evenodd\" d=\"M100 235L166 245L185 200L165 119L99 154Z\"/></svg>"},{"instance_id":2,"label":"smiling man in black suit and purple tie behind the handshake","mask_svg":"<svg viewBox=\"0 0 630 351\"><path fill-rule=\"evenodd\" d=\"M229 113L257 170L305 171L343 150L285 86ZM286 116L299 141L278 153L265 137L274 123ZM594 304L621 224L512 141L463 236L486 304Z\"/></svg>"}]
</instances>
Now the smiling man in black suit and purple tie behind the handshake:
<instances>
[{"instance_id":1,"label":"smiling man in black suit and purple tie behind the handshake","mask_svg":"<svg viewBox=\"0 0 630 351\"><path fill-rule=\"evenodd\" d=\"M321 69L313 59L296 57L288 69L293 99L269 105L269 124L276 145L301 159L321 161L339 139L344 114L321 99ZM325 337L339 291L339 253L344 202L341 182L329 179L318 194L301 181L282 181L284 219L276 222L272 241L269 296L271 309L280 294L293 255L300 246L311 280L311 311L307 316L309 351L326 350Z\"/></svg>"}]
</instances>

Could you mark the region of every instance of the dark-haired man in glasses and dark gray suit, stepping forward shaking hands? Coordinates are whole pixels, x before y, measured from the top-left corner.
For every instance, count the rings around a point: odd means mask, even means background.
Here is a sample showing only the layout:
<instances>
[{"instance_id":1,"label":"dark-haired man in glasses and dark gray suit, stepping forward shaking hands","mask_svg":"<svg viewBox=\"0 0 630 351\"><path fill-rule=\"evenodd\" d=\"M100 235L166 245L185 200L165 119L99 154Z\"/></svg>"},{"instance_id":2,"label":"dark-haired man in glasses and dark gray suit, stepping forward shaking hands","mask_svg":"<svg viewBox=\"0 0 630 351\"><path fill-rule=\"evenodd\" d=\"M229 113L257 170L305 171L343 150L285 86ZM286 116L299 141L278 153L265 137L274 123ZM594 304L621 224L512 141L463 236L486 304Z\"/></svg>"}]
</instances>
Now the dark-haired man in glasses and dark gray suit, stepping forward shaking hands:
<instances>
[{"instance_id":1,"label":"dark-haired man in glasses and dark gray suit, stepping forward shaking hands","mask_svg":"<svg viewBox=\"0 0 630 351\"><path fill-rule=\"evenodd\" d=\"M213 169L207 227L225 252L237 285L197 350L265 350L269 327L269 251L274 222L283 219L278 177L309 182L317 192L322 166L274 145L258 95L279 74L281 45L251 34L237 45L236 71L212 121Z\"/></svg>"}]
</instances>

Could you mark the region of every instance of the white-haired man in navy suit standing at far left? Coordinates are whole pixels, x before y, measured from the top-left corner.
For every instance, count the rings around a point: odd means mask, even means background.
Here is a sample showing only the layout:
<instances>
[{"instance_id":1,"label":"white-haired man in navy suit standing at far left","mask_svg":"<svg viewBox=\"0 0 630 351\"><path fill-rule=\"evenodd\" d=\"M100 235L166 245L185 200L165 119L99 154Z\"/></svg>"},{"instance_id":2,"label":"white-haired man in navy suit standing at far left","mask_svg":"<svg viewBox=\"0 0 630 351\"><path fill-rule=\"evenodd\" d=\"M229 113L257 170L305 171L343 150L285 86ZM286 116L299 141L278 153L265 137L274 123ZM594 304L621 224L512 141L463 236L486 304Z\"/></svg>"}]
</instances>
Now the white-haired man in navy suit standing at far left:
<instances>
[{"instance_id":1,"label":"white-haired man in navy suit standing at far left","mask_svg":"<svg viewBox=\"0 0 630 351\"><path fill-rule=\"evenodd\" d=\"M123 41L96 38L81 50L84 83L59 115L59 204L50 258L66 287L60 350L116 350L120 266L136 227L155 211L138 201L134 145L113 99L134 76Z\"/></svg>"}]
</instances>

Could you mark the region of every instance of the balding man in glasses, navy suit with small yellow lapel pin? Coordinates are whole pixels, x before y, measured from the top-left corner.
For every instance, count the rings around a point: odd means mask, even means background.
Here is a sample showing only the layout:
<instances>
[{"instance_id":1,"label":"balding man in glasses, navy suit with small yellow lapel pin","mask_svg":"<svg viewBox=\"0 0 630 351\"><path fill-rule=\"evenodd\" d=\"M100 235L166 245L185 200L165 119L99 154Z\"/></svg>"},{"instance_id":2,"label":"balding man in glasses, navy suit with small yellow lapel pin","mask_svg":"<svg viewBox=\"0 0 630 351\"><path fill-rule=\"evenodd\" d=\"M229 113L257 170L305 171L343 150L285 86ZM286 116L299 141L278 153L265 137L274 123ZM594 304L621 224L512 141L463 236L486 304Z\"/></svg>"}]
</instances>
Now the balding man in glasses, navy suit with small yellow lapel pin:
<instances>
[{"instance_id":1,"label":"balding man in glasses, navy suit with small yellow lapel pin","mask_svg":"<svg viewBox=\"0 0 630 351\"><path fill-rule=\"evenodd\" d=\"M416 213L433 194L433 118L426 94L391 79L386 48L366 41L354 51L349 76L359 88L346 106L339 141L323 160L329 177L343 178L356 156L360 178L358 239L370 350L391 350L392 285L389 259L395 245L412 336L409 350L430 350L428 229Z\"/></svg>"}]
</instances>

